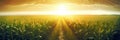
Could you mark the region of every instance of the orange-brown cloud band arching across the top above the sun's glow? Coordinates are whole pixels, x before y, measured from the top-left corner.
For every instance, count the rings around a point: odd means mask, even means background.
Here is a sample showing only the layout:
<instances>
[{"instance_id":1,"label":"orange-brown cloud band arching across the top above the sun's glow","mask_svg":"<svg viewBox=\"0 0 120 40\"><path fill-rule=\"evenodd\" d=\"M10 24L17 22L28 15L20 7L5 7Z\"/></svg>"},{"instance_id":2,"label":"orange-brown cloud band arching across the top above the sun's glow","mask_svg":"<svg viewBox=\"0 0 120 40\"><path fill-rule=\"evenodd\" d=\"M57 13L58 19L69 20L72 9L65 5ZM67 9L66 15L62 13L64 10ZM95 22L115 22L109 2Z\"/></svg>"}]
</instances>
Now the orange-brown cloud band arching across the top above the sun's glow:
<instances>
[{"instance_id":1,"label":"orange-brown cloud band arching across the top above the sun's glow","mask_svg":"<svg viewBox=\"0 0 120 40\"><path fill-rule=\"evenodd\" d=\"M12 6L23 4L55 4L59 2L70 2L76 4L104 4L120 9L120 0L0 0L0 11L10 9ZM22 8L22 7L21 7ZM20 7L19 7L20 9Z\"/></svg>"}]
</instances>

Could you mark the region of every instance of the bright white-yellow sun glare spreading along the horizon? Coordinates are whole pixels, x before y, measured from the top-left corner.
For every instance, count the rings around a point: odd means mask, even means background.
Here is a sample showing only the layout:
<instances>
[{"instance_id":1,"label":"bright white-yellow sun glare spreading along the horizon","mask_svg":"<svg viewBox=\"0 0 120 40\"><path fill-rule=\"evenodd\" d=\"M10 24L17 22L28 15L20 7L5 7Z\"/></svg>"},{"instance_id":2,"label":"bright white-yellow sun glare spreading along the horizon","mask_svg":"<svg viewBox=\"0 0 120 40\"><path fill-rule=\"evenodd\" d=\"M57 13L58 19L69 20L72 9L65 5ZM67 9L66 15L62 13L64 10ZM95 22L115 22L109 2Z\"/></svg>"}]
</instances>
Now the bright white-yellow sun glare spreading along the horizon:
<instances>
[{"instance_id":1,"label":"bright white-yellow sun glare spreading along the horizon","mask_svg":"<svg viewBox=\"0 0 120 40\"><path fill-rule=\"evenodd\" d=\"M0 15L57 15L57 16L71 16L71 15L120 15L118 11L109 11L103 9L92 9L95 5L78 5L73 3L58 3L51 5L32 5L32 9L35 11L6 11L0 12ZM31 6L29 5L29 6ZM27 6L22 5L22 6ZM37 8L37 7L39 8ZM36 7L36 8L34 8ZM87 7L90 7L87 9ZM29 7L28 7L29 8ZM85 8L85 9L84 9ZM25 9L26 10L26 9Z\"/></svg>"}]
</instances>

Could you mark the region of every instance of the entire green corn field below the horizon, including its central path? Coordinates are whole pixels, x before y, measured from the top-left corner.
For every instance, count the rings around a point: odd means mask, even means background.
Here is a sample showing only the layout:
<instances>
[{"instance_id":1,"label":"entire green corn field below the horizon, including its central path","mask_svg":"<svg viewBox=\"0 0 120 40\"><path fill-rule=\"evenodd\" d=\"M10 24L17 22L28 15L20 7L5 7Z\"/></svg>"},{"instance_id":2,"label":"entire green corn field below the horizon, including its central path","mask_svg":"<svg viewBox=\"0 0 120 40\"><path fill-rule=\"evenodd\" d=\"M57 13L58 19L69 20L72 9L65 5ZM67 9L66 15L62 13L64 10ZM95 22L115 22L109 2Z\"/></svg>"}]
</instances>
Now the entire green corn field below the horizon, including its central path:
<instances>
[{"instance_id":1,"label":"entire green corn field below the horizon, including its central path","mask_svg":"<svg viewBox=\"0 0 120 40\"><path fill-rule=\"evenodd\" d=\"M120 40L120 16L0 16L0 40Z\"/></svg>"}]
</instances>

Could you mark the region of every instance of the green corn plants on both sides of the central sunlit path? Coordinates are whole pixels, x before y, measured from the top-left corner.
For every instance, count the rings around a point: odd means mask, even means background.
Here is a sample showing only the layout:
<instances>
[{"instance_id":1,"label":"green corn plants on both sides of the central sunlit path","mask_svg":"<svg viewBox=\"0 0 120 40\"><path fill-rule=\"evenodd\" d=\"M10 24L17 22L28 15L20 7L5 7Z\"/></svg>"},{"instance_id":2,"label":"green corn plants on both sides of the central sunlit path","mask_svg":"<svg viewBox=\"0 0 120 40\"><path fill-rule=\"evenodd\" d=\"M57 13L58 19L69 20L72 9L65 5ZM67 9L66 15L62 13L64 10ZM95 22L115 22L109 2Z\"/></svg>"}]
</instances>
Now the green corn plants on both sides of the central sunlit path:
<instances>
[{"instance_id":1,"label":"green corn plants on both sides of the central sunlit path","mask_svg":"<svg viewBox=\"0 0 120 40\"><path fill-rule=\"evenodd\" d=\"M49 17L49 16L48 16ZM79 18L79 16L78 16ZM88 17L89 18L89 17ZM93 18L93 19L91 19ZM78 40L110 40L116 29L118 16L99 16L66 23ZM1 16L0 40L49 40L57 19L45 16Z\"/></svg>"}]
</instances>

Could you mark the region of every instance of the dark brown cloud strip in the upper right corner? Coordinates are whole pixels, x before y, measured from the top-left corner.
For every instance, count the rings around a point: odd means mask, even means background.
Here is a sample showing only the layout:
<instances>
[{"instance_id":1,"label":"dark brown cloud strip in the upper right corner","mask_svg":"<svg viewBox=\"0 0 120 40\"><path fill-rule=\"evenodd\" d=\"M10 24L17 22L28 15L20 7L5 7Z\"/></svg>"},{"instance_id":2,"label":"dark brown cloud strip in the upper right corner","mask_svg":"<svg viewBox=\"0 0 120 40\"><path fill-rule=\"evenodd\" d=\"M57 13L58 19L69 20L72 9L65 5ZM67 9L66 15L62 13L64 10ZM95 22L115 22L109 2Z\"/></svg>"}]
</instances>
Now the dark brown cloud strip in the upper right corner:
<instances>
[{"instance_id":1,"label":"dark brown cloud strip in the upper right corner","mask_svg":"<svg viewBox=\"0 0 120 40\"><path fill-rule=\"evenodd\" d=\"M109 4L120 5L120 0L70 0L73 3L79 4Z\"/></svg>"}]
</instances>

